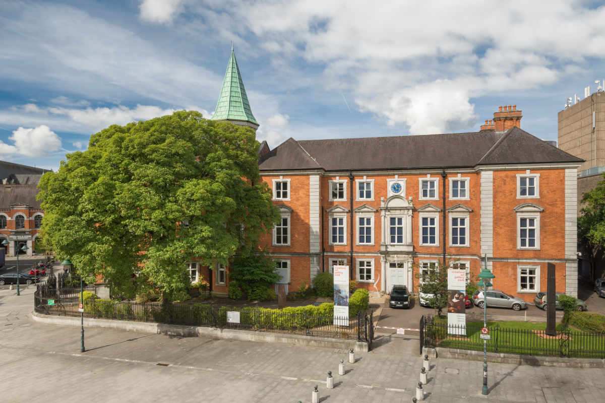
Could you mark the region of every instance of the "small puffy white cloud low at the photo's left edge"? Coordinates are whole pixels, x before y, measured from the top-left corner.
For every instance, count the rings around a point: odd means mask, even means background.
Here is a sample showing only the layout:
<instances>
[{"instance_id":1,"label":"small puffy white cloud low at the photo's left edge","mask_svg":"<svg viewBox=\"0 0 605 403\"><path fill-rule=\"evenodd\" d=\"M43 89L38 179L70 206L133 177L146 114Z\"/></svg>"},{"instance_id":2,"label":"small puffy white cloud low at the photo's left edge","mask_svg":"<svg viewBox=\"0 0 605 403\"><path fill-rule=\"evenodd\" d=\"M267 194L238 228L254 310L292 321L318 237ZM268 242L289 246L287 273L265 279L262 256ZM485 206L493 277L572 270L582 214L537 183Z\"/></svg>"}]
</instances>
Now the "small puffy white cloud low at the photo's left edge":
<instances>
[{"instance_id":1,"label":"small puffy white cloud low at the photo's left edge","mask_svg":"<svg viewBox=\"0 0 605 403\"><path fill-rule=\"evenodd\" d=\"M13 141L15 145L11 146L0 141L0 154L2 155L42 156L55 152L61 147L59 136L44 124L33 129L19 127L13 131L8 140Z\"/></svg>"}]
</instances>

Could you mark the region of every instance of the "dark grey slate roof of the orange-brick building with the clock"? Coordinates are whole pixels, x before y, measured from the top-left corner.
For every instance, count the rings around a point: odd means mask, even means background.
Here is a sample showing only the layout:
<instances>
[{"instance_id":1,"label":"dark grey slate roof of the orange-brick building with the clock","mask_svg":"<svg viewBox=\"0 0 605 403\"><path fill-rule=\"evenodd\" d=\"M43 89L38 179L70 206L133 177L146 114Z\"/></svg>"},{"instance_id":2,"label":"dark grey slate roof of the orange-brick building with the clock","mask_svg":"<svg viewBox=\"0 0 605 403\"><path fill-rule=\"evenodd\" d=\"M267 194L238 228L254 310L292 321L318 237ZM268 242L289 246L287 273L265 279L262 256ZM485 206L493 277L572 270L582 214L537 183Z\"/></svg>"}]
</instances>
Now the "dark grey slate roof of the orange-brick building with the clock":
<instances>
[{"instance_id":1,"label":"dark grey slate roof of the orange-brick building with the clock","mask_svg":"<svg viewBox=\"0 0 605 403\"><path fill-rule=\"evenodd\" d=\"M512 127L505 132L301 141L289 138L261 159L259 169L380 170L581 162L580 158Z\"/></svg>"}]
</instances>

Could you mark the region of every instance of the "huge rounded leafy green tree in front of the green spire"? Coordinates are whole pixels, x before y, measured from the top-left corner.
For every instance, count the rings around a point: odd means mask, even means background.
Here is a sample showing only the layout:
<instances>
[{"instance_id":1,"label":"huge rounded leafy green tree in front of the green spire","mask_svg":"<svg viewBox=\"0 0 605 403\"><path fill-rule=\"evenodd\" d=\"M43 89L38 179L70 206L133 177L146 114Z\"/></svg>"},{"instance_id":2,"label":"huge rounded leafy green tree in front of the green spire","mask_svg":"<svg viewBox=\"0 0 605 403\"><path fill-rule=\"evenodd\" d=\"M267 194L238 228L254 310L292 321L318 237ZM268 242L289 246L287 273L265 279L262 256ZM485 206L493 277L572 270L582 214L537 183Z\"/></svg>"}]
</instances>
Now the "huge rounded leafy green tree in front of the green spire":
<instances>
[{"instance_id":1,"label":"huge rounded leafy green tree in front of the green spire","mask_svg":"<svg viewBox=\"0 0 605 403\"><path fill-rule=\"evenodd\" d=\"M186 262L253 253L278 220L258 146L251 129L194 111L103 129L42 177L44 241L116 292L170 297Z\"/></svg>"}]
</instances>

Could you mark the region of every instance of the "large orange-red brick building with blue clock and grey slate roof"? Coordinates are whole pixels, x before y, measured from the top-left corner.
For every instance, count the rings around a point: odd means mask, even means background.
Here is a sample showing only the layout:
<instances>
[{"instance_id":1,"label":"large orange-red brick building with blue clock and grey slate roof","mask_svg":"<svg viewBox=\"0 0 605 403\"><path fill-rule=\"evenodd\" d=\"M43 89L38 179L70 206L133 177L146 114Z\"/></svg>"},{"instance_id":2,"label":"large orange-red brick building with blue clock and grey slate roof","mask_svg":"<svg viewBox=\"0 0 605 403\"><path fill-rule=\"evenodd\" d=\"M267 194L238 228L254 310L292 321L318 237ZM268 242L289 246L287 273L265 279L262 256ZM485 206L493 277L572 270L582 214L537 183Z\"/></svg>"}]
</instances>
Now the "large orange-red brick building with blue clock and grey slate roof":
<instances>
[{"instance_id":1,"label":"large orange-red brick building with blue clock and grey slate roof","mask_svg":"<svg viewBox=\"0 0 605 403\"><path fill-rule=\"evenodd\" d=\"M267 152L261 175L283 222L263 241L290 290L345 263L368 291L416 292L420 270L445 262L474 279L487 256L494 288L532 300L554 262L557 291L575 295L581 160L511 112L501 131L290 138Z\"/></svg>"}]
</instances>

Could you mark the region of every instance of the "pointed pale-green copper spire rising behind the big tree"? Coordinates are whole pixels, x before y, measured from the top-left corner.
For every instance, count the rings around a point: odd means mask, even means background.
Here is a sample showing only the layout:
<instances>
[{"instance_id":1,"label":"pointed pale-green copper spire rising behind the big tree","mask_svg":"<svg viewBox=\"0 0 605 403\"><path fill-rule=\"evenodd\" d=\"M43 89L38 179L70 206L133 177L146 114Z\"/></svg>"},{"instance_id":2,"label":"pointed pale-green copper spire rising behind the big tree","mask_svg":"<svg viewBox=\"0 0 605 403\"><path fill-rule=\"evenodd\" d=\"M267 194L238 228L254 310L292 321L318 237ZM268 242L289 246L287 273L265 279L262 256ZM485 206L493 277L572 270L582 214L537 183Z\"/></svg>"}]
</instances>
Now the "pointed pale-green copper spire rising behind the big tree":
<instances>
[{"instance_id":1,"label":"pointed pale-green copper spire rising behind the big tree","mask_svg":"<svg viewBox=\"0 0 605 403\"><path fill-rule=\"evenodd\" d=\"M250 109L244 82L241 80L240 68L237 65L237 60L235 60L233 45L231 46L231 57L229 57L227 71L223 79L223 88L221 88L212 120L248 122L251 123L250 126L258 127L258 122L252 115L252 109Z\"/></svg>"}]
</instances>

